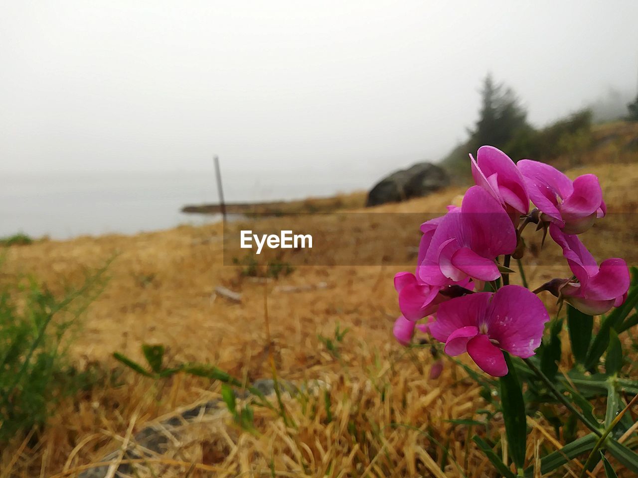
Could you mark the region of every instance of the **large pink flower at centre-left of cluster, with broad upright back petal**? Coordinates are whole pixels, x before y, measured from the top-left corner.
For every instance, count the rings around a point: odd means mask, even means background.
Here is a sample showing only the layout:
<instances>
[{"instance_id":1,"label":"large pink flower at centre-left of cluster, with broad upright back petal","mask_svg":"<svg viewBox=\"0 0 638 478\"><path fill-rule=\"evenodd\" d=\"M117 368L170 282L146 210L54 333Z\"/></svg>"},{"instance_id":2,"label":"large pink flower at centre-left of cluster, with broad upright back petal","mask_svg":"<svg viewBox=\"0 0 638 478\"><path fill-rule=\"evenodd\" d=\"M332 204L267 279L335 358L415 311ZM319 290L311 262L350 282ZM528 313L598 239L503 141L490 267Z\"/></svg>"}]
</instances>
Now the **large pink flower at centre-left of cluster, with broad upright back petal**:
<instances>
[{"instance_id":1,"label":"large pink flower at centre-left of cluster, with broad upright back petal","mask_svg":"<svg viewBox=\"0 0 638 478\"><path fill-rule=\"evenodd\" d=\"M514 224L497 199L480 186L468 189L460 208L421 226L417 277L424 284L447 286L464 279L500 277L494 259L516 249ZM427 237L426 237L427 236Z\"/></svg>"}]
</instances>

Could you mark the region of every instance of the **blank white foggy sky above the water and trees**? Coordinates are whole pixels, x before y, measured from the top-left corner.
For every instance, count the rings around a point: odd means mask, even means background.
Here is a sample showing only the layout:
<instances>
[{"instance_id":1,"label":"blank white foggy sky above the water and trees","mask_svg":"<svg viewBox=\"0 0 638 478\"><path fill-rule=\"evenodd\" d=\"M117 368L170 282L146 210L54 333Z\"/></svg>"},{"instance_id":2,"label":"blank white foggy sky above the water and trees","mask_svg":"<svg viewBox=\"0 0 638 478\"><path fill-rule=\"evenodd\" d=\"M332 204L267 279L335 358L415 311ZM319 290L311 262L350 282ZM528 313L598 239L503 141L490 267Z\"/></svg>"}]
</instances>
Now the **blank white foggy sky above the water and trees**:
<instances>
[{"instance_id":1,"label":"blank white foggy sky above the water and trees","mask_svg":"<svg viewBox=\"0 0 638 478\"><path fill-rule=\"evenodd\" d=\"M440 159L491 71L535 125L635 92L638 1L1 1L0 169Z\"/></svg>"}]
</instances>

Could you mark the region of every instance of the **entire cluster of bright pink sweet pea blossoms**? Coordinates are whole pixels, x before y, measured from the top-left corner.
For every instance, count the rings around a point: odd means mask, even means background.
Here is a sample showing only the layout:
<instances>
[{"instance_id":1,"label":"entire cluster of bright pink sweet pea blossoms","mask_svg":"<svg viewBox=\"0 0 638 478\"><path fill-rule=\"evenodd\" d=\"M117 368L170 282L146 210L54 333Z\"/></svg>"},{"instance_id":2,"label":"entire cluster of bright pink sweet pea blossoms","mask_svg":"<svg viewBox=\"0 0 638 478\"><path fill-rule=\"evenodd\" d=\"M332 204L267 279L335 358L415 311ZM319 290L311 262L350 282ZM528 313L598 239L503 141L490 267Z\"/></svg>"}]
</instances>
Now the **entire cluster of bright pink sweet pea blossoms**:
<instances>
[{"instance_id":1,"label":"entire cluster of bright pink sweet pea blossoms","mask_svg":"<svg viewBox=\"0 0 638 478\"><path fill-rule=\"evenodd\" d=\"M449 206L447 214L421 225L415 273L394 277L403 314L394 335L406 345L415 330L430 333L447 354L468 352L484 372L502 377L508 372L502 351L529 358L540 345L549 315L537 293L549 291L586 314L603 314L625 300L629 271L618 258L598 265L578 238L606 213L595 175L572 181L549 164L515 164L490 146L470 161L475 185L460 207ZM499 287L501 275L508 284L510 257L523 256L521 232L530 223L549 231L573 276L533 292ZM426 323L417 323L422 319Z\"/></svg>"}]
</instances>

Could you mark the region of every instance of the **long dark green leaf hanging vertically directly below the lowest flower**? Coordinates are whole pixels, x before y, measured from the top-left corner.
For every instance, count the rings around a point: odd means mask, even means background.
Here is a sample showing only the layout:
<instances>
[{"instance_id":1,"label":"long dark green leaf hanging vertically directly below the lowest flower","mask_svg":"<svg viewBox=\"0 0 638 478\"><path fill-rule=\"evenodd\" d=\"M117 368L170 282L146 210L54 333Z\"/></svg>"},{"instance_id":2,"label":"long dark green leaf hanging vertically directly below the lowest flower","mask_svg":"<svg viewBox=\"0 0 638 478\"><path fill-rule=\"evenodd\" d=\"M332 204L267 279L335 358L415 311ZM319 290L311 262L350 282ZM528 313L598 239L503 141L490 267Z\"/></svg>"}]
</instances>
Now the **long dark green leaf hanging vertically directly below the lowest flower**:
<instances>
[{"instance_id":1,"label":"long dark green leaf hanging vertically directly below the lowest flower","mask_svg":"<svg viewBox=\"0 0 638 478\"><path fill-rule=\"evenodd\" d=\"M503 352L503 356L509 372L499 380L501 386L501 409L503 410L505 434L507 435L510 454L516 468L521 469L525 465L527 439L523 389L510 355L507 352Z\"/></svg>"}]
</instances>

